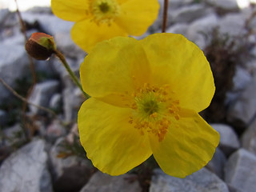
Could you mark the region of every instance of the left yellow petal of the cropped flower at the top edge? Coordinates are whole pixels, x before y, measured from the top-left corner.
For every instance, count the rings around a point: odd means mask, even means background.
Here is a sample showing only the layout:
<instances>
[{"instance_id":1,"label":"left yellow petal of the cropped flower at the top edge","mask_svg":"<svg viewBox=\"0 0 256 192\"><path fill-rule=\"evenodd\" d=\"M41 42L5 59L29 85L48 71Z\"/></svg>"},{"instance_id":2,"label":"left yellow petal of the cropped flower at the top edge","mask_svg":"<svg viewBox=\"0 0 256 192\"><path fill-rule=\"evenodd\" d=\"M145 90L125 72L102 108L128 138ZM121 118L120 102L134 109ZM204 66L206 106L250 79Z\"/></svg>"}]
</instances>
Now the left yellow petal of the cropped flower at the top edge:
<instances>
[{"instance_id":1,"label":"left yellow petal of the cropped flower at the top edge","mask_svg":"<svg viewBox=\"0 0 256 192\"><path fill-rule=\"evenodd\" d=\"M51 0L53 13L66 21L77 22L88 18L86 10L89 7L89 0Z\"/></svg>"}]
</instances>

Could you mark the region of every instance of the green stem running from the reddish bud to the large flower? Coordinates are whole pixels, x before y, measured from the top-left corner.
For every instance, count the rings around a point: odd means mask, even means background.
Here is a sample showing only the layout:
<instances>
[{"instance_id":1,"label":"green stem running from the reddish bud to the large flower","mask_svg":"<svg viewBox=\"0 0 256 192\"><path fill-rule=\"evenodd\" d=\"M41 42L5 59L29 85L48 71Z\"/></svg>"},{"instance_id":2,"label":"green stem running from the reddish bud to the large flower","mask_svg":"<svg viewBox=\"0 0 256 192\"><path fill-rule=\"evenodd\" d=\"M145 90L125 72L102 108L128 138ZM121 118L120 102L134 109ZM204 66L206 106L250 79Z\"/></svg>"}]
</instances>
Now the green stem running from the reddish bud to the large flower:
<instances>
[{"instance_id":1,"label":"green stem running from the reddish bud to the large flower","mask_svg":"<svg viewBox=\"0 0 256 192\"><path fill-rule=\"evenodd\" d=\"M75 76L74 72L70 69L70 66L67 64L66 58L63 56L63 54L58 50L54 50L54 54L56 54L56 56L61 60L63 66L65 66L67 72L70 74L70 77L73 79L74 83L78 86L82 93L86 96L86 98L90 98L90 95L86 94L86 92L82 90L81 83L79 82L77 76Z\"/></svg>"}]
</instances>

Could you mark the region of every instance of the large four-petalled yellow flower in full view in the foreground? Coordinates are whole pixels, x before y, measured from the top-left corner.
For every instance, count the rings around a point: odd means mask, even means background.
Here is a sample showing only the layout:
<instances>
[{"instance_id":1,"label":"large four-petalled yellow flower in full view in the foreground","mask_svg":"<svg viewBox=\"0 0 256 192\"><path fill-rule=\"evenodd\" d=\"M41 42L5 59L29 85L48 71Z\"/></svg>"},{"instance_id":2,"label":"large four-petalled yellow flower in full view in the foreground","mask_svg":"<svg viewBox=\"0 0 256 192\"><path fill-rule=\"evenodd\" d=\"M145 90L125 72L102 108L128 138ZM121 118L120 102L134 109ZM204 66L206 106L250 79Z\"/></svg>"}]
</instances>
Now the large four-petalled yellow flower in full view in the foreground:
<instances>
[{"instance_id":1,"label":"large four-petalled yellow flower in full view in the foreground","mask_svg":"<svg viewBox=\"0 0 256 192\"><path fill-rule=\"evenodd\" d=\"M124 174L151 154L175 177L206 166L219 135L198 114L214 95L204 54L181 34L98 43L80 68L92 97L78 112L87 157L102 172Z\"/></svg>"}]
</instances>

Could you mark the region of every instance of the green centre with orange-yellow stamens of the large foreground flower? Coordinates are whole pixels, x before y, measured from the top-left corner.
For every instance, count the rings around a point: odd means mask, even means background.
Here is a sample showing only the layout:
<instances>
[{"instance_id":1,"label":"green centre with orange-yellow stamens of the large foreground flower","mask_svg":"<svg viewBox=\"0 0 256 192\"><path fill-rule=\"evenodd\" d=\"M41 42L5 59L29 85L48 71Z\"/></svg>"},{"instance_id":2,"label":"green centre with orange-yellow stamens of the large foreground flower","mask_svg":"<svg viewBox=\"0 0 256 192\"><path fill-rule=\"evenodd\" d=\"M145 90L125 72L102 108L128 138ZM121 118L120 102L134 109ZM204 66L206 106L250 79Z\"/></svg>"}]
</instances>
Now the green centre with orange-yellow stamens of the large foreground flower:
<instances>
[{"instance_id":1,"label":"green centre with orange-yellow stamens of the large foreground flower","mask_svg":"<svg viewBox=\"0 0 256 192\"><path fill-rule=\"evenodd\" d=\"M159 142L165 138L171 122L179 119L179 101L171 97L168 87L150 86L146 83L134 92L134 103L130 105L134 115L129 122L142 135L156 135Z\"/></svg>"}]
</instances>

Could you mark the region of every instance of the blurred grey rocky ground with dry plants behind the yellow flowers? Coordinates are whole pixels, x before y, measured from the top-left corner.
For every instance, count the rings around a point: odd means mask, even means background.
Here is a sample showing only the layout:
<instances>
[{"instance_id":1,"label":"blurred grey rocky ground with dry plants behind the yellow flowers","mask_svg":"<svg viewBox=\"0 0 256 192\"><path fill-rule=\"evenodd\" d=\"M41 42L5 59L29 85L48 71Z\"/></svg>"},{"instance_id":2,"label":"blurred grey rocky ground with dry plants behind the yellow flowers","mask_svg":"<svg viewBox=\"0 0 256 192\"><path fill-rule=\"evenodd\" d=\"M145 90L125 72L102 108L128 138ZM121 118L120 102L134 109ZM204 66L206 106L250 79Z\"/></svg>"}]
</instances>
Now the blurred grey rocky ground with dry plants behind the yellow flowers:
<instances>
[{"instance_id":1,"label":"blurred grey rocky ground with dry plants behind the yellow flowers","mask_svg":"<svg viewBox=\"0 0 256 192\"><path fill-rule=\"evenodd\" d=\"M22 18L28 36L37 31L53 35L78 74L86 54L70 38L73 23L55 17L49 7L22 12ZM160 32L161 22L159 16L144 36ZM17 14L0 10L0 26L0 77L26 97L31 67ZM57 116L34 106L22 113L22 102L0 84L0 191L255 192L256 6L241 10L234 0L171 0L167 32L195 42L214 73L216 94L202 116L221 141L205 168L184 179L155 166L148 167L150 174L144 167L142 173L135 169L118 177L97 171L77 142L76 118L84 98L52 57L34 61L38 81L29 101Z\"/></svg>"}]
</instances>

